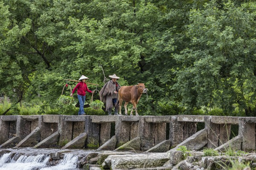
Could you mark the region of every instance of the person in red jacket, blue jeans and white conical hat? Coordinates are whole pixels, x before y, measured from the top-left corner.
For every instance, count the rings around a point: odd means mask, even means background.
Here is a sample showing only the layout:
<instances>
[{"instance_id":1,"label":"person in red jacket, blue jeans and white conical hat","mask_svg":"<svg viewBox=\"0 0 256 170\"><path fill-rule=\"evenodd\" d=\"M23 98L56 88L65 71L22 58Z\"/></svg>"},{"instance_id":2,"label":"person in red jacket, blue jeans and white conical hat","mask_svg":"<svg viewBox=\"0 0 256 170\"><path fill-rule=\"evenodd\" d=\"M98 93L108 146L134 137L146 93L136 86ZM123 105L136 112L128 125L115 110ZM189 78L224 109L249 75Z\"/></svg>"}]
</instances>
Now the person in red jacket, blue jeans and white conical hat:
<instances>
[{"instance_id":1,"label":"person in red jacket, blue jeans and white conical hat","mask_svg":"<svg viewBox=\"0 0 256 170\"><path fill-rule=\"evenodd\" d=\"M89 79L89 78L82 75L79 79L79 81L81 81L81 82L77 83L76 87L72 91L72 94L70 94L70 96L73 96L73 94L75 93L75 91L77 89L77 98L78 98L78 101L79 101L79 104L80 104L78 115L85 115L85 113L84 113L84 101L85 101L86 92L94 93L94 91L90 91L87 88L87 84L85 83L85 81L87 79Z\"/></svg>"}]
</instances>

